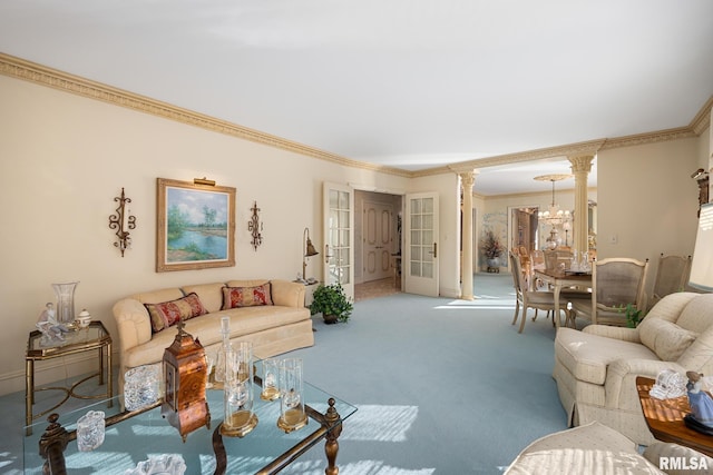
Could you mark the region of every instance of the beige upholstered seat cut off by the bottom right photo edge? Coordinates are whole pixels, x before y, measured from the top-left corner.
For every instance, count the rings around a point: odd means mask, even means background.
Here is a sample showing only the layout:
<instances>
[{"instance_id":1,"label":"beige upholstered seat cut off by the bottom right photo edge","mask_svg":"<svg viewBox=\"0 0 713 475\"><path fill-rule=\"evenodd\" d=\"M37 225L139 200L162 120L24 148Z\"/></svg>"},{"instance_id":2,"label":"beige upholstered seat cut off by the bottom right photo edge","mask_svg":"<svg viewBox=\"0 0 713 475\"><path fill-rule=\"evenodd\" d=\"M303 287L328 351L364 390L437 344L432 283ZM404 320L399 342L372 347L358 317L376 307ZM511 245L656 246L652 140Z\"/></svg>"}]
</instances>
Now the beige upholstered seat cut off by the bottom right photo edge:
<instances>
[{"instance_id":1,"label":"beige upholstered seat cut off by the bottom right photo edge","mask_svg":"<svg viewBox=\"0 0 713 475\"><path fill-rule=\"evenodd\" d=\"M713 458L677 444L634 442L597 422L546 435L525 447L506 475L710 474Z\"/></svg>"}]
</instances>

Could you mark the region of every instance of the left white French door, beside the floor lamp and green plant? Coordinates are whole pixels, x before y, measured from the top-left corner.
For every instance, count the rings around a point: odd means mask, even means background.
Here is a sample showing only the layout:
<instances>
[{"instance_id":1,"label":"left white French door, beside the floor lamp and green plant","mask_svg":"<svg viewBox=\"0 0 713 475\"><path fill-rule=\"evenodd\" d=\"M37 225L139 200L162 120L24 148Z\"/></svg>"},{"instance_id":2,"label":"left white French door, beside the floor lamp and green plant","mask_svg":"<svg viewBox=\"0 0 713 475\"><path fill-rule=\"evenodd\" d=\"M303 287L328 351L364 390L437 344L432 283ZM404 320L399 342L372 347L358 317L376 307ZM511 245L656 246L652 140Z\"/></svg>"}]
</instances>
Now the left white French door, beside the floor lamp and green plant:
<instances>
[{"instance_id":1,"label":"left white French door, beside the floor lamp and green plant","mask_svg":"<svg viewBox=\"0 0 713 475\"><path fill-rule=\"evenodd\" d=\"M325 182L324 284L341 284L354 297L354 190L346 185Z\"/></svg>"}]
</instances>

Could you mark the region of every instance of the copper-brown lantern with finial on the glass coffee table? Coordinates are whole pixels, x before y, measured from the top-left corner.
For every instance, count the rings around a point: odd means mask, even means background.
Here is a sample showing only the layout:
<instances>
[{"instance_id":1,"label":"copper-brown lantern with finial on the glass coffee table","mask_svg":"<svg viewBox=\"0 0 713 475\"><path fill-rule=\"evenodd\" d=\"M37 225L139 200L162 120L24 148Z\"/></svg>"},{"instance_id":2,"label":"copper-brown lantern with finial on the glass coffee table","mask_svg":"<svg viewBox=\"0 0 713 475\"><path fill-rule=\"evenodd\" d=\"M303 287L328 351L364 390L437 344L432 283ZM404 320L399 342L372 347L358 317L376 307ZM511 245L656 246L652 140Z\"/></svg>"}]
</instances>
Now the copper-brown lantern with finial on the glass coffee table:
<instances>
[{"instance_id":1,"label":"copper-brown lantern with finial on the glass coffee table","mask_svg":"<svg viewBox=\"0 0 713 475\"><path fill-rule=\"evenodd\" d=\"M180 320L176 339L164 352L166 388L160 414L186 442L186 436L201 426L211 428L211 413L205 398L208 377L205 349L183 327Z\"/></svg>"}]
</instances>

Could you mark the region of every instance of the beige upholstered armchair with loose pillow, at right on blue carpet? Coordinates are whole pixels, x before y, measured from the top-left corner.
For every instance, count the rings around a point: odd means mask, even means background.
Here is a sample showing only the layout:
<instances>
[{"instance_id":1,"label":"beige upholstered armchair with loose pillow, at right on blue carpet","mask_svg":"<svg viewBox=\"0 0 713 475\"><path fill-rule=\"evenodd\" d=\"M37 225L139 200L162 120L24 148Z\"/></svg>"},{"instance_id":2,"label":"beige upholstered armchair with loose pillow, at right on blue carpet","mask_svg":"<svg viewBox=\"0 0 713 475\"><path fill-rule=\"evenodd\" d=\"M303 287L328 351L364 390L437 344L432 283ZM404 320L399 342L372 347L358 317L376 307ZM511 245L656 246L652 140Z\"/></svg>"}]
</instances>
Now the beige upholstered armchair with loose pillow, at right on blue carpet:
<instances>
[{"instance_id":1,"label":"beige upholstered armchair with loose pillow, at right on blue carpet","mask_svg":"<svg viewBox=\"0 0 713 475\"><path fill-rule=\"evenodd\" d=\"M636 376L663 369L713 375L713 294L677 293L660 300L637 328L559 328L553 376L570 425L598 420L641 445L646 426Z\"/></svg>"}]
</instances>

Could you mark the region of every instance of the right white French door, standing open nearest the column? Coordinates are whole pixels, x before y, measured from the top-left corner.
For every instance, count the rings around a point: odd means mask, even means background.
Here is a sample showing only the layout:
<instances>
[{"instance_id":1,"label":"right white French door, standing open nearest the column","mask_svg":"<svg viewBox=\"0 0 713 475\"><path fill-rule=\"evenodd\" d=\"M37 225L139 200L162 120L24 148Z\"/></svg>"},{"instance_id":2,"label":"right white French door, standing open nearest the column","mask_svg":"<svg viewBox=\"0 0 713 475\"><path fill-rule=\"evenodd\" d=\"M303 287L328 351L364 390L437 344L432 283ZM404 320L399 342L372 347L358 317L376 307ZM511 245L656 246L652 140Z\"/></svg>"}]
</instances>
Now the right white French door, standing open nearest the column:
<instances>
[{"instance_id":1,"label":"right white French door, standing open nearest the column","mask_svg":"<svg viewBox=\"0 0 713 475\"><path fill-rule=\"evenodd\" d=\"M438 194L406 196L404 235L406 291L438 297Z\"/></svg>"}]
</instances>

